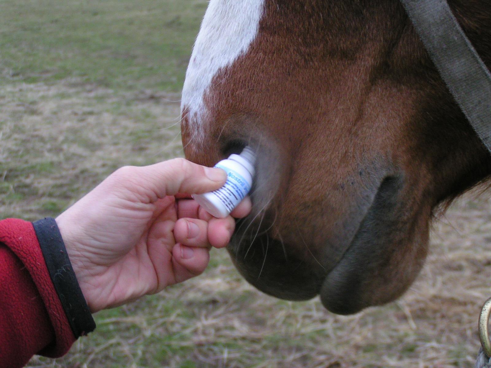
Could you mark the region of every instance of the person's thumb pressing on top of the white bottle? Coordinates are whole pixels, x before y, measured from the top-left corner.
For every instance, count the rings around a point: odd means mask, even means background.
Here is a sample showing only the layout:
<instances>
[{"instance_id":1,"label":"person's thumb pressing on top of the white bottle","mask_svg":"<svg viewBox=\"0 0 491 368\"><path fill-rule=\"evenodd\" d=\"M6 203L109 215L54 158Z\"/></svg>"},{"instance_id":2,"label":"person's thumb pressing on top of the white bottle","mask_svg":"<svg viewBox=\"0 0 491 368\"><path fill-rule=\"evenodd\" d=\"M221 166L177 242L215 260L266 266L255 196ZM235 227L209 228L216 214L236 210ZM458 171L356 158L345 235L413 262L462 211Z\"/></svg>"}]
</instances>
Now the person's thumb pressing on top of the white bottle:
<instances>
[{"instance_id":1,"label":"person's thumb pressing on top of the white bottle","mask_svg":"<svg viewBox=\"0 0 491 368\"><path fill-rule=\"evenodd\" d=\"M184 158L173 158L149 166L130 167L131 181L150 195L200 194L216 190L225 184L227 174L222 169L205 167Z\"/></svg>"}]
</instances>

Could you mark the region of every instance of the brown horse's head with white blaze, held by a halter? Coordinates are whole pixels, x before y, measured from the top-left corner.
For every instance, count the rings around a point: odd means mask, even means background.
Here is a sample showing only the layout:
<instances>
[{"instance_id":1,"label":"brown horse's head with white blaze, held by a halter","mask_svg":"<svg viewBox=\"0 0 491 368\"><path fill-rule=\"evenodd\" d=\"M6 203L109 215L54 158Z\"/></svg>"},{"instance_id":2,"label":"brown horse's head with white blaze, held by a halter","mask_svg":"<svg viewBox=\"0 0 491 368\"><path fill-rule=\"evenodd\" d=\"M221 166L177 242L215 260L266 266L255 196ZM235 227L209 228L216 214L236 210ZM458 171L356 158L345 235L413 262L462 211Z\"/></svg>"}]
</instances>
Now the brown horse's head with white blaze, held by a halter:
<instances>
[{"instance_id":1,"label":"brown horse's head with white blaze, held by a halter","mask_svg":"<svg viewBox=\"0 0 491 368\"><path fill-rule=\"evenodd\" d=\"M449 4L490 67L491 2ZM259 154L228 247L244 277L340 314L400 296L436 210L491 173L397 0L212 0L182 133L201 164Z\"/></svg>"}]
</instances>

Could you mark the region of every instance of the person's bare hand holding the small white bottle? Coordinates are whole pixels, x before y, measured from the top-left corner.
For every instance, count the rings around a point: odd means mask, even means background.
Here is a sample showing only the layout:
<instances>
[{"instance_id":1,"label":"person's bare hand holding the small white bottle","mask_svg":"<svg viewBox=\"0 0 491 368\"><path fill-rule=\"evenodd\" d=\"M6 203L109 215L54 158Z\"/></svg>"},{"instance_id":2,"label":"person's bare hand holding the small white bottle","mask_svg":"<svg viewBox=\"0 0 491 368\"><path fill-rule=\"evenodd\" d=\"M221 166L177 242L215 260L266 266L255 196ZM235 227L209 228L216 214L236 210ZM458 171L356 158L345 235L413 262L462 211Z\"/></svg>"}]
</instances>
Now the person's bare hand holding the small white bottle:
<instances>
[{"instance_id":1,"label":"person's bare hand holding the small white bottle","mask_svg":"<svg viewBox=\"0 0 491 368\"><path fill-rule=\"evenodd\" d=\"M191 199L225 183L221 169L183 158L116 170L56 218L92 313L201 274L246 216L246 197L224 219Z\"/></svg>"}]
</instances>

